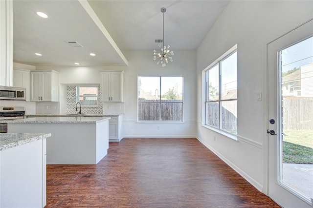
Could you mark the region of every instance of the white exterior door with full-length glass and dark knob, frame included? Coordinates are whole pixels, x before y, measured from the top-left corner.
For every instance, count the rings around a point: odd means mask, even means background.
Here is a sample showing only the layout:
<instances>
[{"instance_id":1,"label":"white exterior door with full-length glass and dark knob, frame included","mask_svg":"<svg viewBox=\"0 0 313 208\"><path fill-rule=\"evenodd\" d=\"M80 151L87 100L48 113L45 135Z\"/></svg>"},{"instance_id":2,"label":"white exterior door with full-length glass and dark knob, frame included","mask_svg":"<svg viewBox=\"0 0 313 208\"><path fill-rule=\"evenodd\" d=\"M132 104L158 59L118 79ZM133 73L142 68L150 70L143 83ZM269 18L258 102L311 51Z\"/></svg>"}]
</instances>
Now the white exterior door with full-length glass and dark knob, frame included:
<instances>
[{"instance_id":1,"label":"white exterior door with full-length glass and dark knob, frame included","mask_svg":"<svg viewBox=\"0 0 313 208\"><path fill-rule=\"evenodd\" d=\"M268 43L268 195L286 208L312 206L312 36L313 20Z\"/></svg>"}]
</instances>

